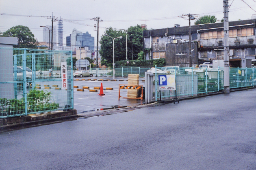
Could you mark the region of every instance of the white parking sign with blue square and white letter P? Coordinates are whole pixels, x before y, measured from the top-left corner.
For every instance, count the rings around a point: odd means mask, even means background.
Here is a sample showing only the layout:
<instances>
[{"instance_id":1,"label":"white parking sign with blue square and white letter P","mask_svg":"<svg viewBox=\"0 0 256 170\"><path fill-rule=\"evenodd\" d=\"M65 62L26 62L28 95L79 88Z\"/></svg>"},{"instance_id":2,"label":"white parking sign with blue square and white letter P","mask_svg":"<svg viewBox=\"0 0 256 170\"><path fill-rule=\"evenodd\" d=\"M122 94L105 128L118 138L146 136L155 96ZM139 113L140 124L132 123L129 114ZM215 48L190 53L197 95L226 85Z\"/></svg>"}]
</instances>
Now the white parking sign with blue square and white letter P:
<instances>
[{"instance_id":1,"label":"white parking sign with blue square and white letter P","mask_svg":"<svg viewBox=\"0 0 256 170\"><path fill-rule=\"evenodd\" d=\"M158 76L160 90L176 90L175 75L159 75Z\"/></svg>"}]
</instances>

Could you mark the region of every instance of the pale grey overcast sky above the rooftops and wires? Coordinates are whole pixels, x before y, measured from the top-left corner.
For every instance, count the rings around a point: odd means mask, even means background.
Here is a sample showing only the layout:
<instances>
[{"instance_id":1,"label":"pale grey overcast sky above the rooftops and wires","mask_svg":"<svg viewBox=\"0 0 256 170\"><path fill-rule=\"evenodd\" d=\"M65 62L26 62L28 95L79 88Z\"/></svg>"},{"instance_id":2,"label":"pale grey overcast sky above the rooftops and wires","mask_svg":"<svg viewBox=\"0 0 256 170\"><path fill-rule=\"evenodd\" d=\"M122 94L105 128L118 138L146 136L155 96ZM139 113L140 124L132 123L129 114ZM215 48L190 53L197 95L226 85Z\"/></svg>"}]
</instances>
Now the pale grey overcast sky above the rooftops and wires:
<instances>
[{"instance_id":1,"label":"pale grey overcast sky above the rooftops and wires","mask_svg":"<svg viewBox=\"0 0 256 170\"><path fill-rule=\"evenodd\" d=\"M244 2L243 2L244 1ZM256 0L229 0L229 21L251 19L256 12ZM247 6L245 2L251 6ZM254 11L255 10L255 11ZM99 36L106 28L127 29L137 24L146 24L147 28L171 28L174 24L188 26L189 21L182 19L182 14L215 15L223 18L223 0L0 0L0 13L15 15L52 16L76 21L90 26L72 22L63 22L63 44L66 36L74 28L82 32L88 31L95 37L94 17L100 17ZM195 20L194 20L195 21ZM191 22L193 25L194 21ZM57 26L58 22L54 22ZM4 32L13 26L27 26L39 41L43 41L43 28L51 25L51 19L44 17L20 17L0 15L0 31ZM58 41L58 38L57 38Z\"/></svg>"}]
</instances>

